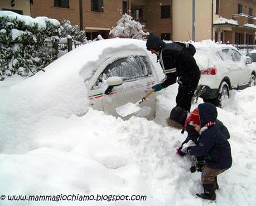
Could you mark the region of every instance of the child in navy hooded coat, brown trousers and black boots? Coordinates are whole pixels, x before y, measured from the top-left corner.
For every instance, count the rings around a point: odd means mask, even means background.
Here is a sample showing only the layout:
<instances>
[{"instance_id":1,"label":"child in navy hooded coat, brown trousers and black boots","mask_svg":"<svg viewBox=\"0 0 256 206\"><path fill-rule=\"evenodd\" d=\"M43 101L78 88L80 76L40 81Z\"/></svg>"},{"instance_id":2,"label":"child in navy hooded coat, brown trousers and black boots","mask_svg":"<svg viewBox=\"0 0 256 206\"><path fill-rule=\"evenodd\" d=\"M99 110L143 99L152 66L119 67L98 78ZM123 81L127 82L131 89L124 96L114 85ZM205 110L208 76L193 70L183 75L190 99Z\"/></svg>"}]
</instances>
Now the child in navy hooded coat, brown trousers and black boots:
<instances>
[{"instance_id":1,"label":"child in navy hooded coat, brown trousers and black boots","mask_svg":"<svg viewBox=\"0 0 256 206\"><path fill-rule=\"evenodd\" d=\"M200 133L196 146L182 148L188 155L205 156L205 166L202 168L201 182L204 193L197 193L202 199L215 200L215 178L232 165L230 144L221 133L215 121L218 116L216 107L211 103L198 105L198 119L194 117L195 129Z\"/></svg>"}]
</instances>

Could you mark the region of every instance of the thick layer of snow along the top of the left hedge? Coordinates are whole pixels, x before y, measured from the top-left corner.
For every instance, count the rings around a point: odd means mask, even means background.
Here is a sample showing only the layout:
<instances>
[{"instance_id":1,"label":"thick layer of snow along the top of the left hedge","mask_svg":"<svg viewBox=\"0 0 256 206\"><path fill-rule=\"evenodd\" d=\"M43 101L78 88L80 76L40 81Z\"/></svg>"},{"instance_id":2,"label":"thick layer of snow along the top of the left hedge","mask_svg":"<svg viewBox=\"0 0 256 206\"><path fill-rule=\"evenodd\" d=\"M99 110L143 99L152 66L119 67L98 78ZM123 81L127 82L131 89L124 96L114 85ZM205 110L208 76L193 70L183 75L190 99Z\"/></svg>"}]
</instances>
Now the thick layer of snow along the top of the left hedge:
<instances>
[{"instance_id":1,"label":"thick layer of snow along the top of the left hedge","mask_svg":"<svg viewBox=\"0 0 256 206\"><path fill-rule=\"evenodd\" d=\"M56 19L48 18L48 17L36 17L32 18L30 16L21 15L11 11L0 11L0 17L8 17L10 19L17 18L19 21L24 22L27 26L33 26L33 24L38 24L39 28L46 27L46 21L51 22L55 25L60 25L60 22Z\"/></svg>"}]
</instances>

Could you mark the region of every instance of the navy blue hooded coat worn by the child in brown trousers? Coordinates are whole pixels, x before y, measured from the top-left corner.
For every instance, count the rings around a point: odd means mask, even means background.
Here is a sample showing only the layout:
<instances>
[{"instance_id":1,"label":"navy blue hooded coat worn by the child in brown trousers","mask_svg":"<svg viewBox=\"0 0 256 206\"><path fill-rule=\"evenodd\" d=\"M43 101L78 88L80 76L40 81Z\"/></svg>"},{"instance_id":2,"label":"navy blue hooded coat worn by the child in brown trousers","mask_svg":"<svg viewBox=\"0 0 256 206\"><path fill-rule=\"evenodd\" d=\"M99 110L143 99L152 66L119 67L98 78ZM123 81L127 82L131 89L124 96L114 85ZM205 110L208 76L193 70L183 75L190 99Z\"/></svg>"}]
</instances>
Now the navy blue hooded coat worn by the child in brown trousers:
<instances>
[{"instance_id":1,"label":"navy blue hooded coat worn by the child in brown trousers","mask_svg":"<svg viewBox=\"0 0 256 206\"><path fill-rule=\"evenodd\" d=\"M217 110L211 103L199 104L200 125L204 127L208 122L215 122ZM232 165L230 144L216 125L201 128L197 146L187 148L189 155L205 156L205 165L212 169L227 169ZM204 130L206 129L206 130Z\"/></svg>"}]
</instances>

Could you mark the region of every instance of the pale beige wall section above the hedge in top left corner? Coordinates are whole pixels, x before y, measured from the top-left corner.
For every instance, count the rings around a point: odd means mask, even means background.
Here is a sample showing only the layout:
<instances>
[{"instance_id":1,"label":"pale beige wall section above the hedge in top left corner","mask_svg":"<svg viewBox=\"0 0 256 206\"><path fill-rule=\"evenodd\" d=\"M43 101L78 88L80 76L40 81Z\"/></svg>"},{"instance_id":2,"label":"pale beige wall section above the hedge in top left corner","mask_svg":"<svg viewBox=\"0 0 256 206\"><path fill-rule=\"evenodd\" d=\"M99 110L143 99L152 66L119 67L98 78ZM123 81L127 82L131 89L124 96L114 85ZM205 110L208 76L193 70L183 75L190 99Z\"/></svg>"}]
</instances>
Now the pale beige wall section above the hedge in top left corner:
<instances>
[{"instance_id":1,"label":"pale beige wall section above the hedge in top left corner","mask_svg":"<svg viewBox=\"0 0 256 206\"><path fill-rule=\"evenodd\" d=\"M23 15L31 16L30 13L30 0L16 0L15 6L11 6L11 2L9 0L1 0L0 1L0 9L14 9L22 11Z\"/></svg>"}]
</instances>

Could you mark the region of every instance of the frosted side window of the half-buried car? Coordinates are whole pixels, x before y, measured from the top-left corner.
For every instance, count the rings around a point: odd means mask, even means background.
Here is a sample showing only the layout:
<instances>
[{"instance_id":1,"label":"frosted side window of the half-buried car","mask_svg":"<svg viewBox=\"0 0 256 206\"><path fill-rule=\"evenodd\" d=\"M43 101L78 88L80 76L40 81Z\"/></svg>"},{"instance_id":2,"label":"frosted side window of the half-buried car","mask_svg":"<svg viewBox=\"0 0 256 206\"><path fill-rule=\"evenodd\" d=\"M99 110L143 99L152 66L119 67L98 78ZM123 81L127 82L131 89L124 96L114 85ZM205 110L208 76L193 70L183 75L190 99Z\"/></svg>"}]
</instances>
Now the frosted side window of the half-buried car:
<instances>
[{"instance_id":1,"label":"frosted side window of the half-buried car","mask_svg":"<svg viewBox=\"0 0 256 206\"><path fill-rule=\"evenodd\" d=\"M135 80L139 77L152 75L151 67L143 56L129 56L119 58L114 62L110 63L103 73L99 76L96 81L96 85L102 82L102 79L107 80L108 77L118 76L123 77L123 80Z\"/></svg>"}]
</instances>

